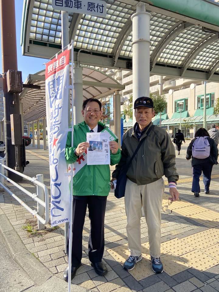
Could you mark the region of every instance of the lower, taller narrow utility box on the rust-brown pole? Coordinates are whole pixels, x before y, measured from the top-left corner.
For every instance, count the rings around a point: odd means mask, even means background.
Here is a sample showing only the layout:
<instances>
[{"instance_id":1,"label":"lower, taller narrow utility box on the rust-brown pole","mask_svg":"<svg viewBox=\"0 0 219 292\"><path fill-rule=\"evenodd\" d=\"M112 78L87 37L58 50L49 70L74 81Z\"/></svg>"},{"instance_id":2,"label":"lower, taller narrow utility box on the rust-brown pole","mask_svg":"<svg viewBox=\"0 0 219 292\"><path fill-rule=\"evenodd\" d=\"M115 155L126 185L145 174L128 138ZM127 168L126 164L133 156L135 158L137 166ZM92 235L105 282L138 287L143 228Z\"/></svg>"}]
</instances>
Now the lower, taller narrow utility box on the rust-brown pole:
<instances>
[{"instance_id":1,"label":"lower, taller narrow utility box on the rust-brown pole","mask_svg":"<svg viewBox=\"0 0 219 292\"><path fill-rule=\"evenodd\" d=\"M21 115L18 113L12 113L10 115L10 120L12 145L22 145Z\"/></svg>"}]
</instances>

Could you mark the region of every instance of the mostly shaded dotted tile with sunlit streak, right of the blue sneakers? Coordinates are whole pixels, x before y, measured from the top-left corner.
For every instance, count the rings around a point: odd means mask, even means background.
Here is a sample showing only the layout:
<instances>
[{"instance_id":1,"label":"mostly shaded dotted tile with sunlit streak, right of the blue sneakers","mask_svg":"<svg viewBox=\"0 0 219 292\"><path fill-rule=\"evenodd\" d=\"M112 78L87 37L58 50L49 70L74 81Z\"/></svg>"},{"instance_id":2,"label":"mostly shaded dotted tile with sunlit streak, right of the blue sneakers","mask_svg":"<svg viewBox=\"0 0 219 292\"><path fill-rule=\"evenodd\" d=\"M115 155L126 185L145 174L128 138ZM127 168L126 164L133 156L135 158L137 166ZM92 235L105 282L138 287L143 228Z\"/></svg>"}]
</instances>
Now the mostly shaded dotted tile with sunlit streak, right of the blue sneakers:
<instances>
[{"instance_id":1,"label":"mostly shaded dotted tile with sunlit streak, right of the blue sneakers","mask_svg":"<svg viewBox=\"0 0 219 292\"><path fill-rule=\"evenodd\" d=\"M166 253L165 255L162 255L161 261L163 263L165 273L167 273L169 276L173 276L186 269L191 268L191 266L186 263L181 257L178 257L171 253Z\"/></svg>"}]
</instances>

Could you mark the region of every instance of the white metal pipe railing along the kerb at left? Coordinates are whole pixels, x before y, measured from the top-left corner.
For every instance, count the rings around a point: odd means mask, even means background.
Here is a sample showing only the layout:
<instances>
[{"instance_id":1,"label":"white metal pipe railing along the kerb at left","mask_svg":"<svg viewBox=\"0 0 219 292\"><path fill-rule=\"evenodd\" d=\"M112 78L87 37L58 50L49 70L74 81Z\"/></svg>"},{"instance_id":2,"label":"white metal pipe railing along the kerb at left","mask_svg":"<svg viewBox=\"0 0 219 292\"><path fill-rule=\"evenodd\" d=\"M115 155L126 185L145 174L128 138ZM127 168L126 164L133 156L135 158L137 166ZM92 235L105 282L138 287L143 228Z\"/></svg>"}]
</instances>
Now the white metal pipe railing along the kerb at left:
<instances>
[{"instance_id":1,"label":"white metal pipe railing along the kerb at left","mask_svg":"<svg viewBox=\"0 0 219 292\"><path fill-rule=\"evenodd\" d=\"M41 200L38 197L38 188L37 188L37 193L30 193L28 190L24 189L22 186L20 186L18 183L14 182L12 179L9 179L7 176L5 176L4 174L2 174L0 172L0 177L3 177L4 179L6 179L8 182L12 183L14 186L16 186L18 189L20 189L21 191L23 191L25 194L27 194L28 196L30 196L34 201L37 202L37 205L40 204L41 206L43 206L45 208L45 219L43 219L39 214L38 211L31 209L26 203L24 203L18 196L16 196L14 193L12 193L6 186L4 186L4 182L0 182L0 186L5 189L13 198L15 198L23 207L26 208L26 210L28 210L34 217L37 218L38 221L40 221L43 225L47 224L49 222L49 191L47 189L47 186L40 182L39 180L36 179L36 177L30 177L30 176L26 176L23 173L20 173L14 169L11 169L10 167L2 164L0 162L0 168L5 168L11 172L16 173L18 176L23 177L24 179L29 180L30 182L32 182L34 185L39 186L40 188L43 189L44 192L44 197L45 197L45 202L43 200ZM38 224L39 226L39 224Z\"/></svg>"}]
</instances>

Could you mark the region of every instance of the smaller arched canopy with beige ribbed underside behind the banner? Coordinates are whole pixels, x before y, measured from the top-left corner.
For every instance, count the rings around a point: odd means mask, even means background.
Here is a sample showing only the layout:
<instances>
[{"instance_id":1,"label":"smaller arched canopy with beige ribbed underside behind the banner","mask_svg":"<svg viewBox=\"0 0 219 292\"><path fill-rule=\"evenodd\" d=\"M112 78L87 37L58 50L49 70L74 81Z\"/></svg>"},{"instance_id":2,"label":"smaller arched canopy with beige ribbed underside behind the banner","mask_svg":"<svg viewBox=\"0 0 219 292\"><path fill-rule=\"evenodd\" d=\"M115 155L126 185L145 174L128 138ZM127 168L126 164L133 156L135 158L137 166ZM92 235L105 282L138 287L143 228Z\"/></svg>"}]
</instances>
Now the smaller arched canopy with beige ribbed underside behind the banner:
<instances>
[{"instance_id":1,"label":"smaller arched canopy with beige ribbed underside behind the banner","mask_svg":"<svg viewBox=\"0 0 219 292\"><path fill-rule=\"evenodd\" d=\"M125 88L124 85L121 85L109 75L93 68L83 67L82 74L83 99L99 99L109 96L117 90L120 91ZM30 123L46 116L45 71L43 70L36 74L30 74L24 84L40 85L41 87L41 89L31 89L25 87L20 93L20 102L23 104L24 121Z\"/></svg>"}]
</instances>

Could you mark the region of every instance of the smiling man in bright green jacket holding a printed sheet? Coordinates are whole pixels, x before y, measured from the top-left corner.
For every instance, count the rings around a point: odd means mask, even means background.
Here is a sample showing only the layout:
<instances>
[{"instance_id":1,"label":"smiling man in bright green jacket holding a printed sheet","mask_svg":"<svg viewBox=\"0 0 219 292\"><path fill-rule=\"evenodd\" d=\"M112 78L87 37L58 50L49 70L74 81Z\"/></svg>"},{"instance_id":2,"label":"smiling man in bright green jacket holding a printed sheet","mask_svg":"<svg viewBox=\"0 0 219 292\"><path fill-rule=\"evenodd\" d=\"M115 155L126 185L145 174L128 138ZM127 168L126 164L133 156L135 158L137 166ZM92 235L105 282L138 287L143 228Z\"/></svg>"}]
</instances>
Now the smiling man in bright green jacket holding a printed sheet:
<instances>
[{"instance_id":1,"label":"smiling man in bright green jacket holding a printed sheet","mask_svg":"<svg viewBox=\"0 0 219 292\"><path fill-rule=\"evenodd\" d=\"M67 163L80 160L83 165L85 153L89 147L86 142L88 132L101 132L106 126L99 122L102 115L102 104L98 99L86 99L82 106L84 121L74 126L73 147L71 147L71 132L68 132L65 158ZM118 140L110 141L110 163L115 165L120 161L121 151ZM109 165L87 165L84 163L73 177L73 218L72 218L72 254L71 278L75 276L82 259L82 231L88 206L90 219L90 236L88 256L97 274L107 273L106 265L102 262L104 252L104 216L106 198L110 190ZM67 245L68 248L68 245ZM63 278L68 281L68 267Z\"/></svg>"}]
</instances>

